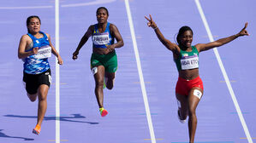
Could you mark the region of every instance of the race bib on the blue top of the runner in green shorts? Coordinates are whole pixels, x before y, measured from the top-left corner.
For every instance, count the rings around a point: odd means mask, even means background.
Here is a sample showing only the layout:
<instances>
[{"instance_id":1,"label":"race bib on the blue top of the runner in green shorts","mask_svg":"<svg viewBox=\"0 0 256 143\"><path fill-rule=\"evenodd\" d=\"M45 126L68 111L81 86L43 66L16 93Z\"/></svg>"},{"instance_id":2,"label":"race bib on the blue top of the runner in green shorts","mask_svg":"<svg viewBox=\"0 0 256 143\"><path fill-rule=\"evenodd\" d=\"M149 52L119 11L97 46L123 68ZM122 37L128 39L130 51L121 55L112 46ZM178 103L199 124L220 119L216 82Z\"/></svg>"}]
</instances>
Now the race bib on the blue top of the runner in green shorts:
<instances>
[{"instance_id":1,"label":"race bib on the blue top of the runner in green shorts","mask_svg":"<svg viewBox=\"0 0 256 143\"><path fill-rule=\"evenodd\" d=\"M93 35L92 42L95 45L104 45L110 43L109 32L97 33Z\"/></svg>"}]
</instances>

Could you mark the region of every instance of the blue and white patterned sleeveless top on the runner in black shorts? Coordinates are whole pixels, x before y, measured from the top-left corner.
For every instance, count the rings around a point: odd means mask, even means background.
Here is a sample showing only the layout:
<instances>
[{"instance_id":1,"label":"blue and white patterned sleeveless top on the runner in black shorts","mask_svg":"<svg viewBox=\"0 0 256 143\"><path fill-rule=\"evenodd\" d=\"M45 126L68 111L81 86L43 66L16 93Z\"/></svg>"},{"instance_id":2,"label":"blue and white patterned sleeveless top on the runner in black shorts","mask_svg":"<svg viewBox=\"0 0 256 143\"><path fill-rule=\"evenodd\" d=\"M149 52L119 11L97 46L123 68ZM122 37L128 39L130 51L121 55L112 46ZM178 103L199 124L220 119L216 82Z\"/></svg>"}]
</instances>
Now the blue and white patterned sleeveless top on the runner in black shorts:
<instances>
[{"instance_id":1,"label":"blue and white patterned sleeveless top on the runner in black shorts","mask_svg":"<svg viewBox=\"0 0 256 143\"><path fill-rule=\"evenodd\" d=\"M46 34L42 31L39 31L39 33L43 34L44 37L36 38L32 34L27 33L33 41L33 48L39 47L38 54L29 55L23 59L24 72L28 74L39 74L50 68L48 57L51 57L51 46ZM33 50L33 48L27 49L26 52Z\"/></svg>"}]
</instances>

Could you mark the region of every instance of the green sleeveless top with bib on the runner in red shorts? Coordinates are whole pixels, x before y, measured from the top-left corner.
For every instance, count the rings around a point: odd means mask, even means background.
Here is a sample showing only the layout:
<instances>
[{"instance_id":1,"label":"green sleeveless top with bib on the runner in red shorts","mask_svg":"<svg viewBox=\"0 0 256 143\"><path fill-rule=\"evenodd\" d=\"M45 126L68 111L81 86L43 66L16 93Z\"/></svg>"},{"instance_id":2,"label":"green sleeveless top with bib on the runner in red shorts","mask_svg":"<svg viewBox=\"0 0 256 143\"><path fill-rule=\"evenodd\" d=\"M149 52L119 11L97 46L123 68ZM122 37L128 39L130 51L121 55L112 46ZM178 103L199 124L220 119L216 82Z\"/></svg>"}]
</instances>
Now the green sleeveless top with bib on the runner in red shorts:
<instances>
[{"instance_id":1,"label":"green sleeveless top with bib on the runner in red shorts","mask_svg":"<svg viewBox=\"0 0 256 143\"><path fill-rule=\"evenodd\" d=\"M192 46L191 52L181 49L181 53L175 62L178 71L199 68L199 51L194 46Z\"/></svg>"}]
</instances>

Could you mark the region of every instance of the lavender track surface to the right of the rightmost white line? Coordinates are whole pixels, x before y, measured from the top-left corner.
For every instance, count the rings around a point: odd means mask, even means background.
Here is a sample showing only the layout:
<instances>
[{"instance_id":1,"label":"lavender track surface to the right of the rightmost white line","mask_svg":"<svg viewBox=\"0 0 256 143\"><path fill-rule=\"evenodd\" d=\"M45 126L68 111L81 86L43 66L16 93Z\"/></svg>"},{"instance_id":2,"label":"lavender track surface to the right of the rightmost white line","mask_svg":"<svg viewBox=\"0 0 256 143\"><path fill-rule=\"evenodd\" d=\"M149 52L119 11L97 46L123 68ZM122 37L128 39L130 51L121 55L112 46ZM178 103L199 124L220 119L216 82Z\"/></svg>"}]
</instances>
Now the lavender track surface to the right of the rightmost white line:
<instances>
[{"instance_id":1,"label":"lavender track surface to the right of the rightmost white line","mask_svg":"<svg viewBox=\"0 0 256 143\"><path fill-rule=\"evenodd\" d=\"M222 4L217 4L222 3ZM232 3L232 5L230 5ZM227 34L232 34L241 30L245 22L248 22L247 31L249 37L240 37L233 43L225 45L223 48L218 49L220 55L223 57L223 65L226 67L226 72L229 74L229 80L234 89L235 96L241 107L241 112L247 123L250 134L255 141L256 125L255 125L255 93L253 91L256 82L252 80L254 69L256 66L253 59L254 53L251 50L255 47L255 23L256 12L254 10L254 1L222 1L206 2L202 1L205 6L205 14L209 15L208 22L211 23L211 31L213 35L223 37ZM214 9L222 14L215 14ZM232 9L232 10L229 10ZM241 10L235 10L241 9ZM211 18L210 18L211 17ZM216 22L221 21L221 22ZM237 113L235 109L228 112L232 116L229 122L232 122ZM235 130L237 132L237 130ZM245 134L238 136L245 138ZM238 140L237 142L247 142L245 139Z\"/></svg>"}]
</instances>

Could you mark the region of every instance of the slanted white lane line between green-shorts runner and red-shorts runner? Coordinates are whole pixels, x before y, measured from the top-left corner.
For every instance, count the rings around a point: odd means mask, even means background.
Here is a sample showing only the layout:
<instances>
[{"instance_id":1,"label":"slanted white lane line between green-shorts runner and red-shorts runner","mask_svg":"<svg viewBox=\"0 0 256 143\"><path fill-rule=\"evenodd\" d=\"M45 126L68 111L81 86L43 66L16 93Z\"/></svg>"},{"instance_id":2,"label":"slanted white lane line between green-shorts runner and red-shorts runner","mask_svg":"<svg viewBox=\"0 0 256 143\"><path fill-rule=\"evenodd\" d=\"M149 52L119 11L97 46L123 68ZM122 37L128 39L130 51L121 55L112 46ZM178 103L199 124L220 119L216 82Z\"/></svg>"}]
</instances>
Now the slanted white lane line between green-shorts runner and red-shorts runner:
<instances>
[{"instance_id":1,"label":"slanted white lane line between green-shorts runner and red-shorts runner","mask_svg":"<svg viewBox=\"0 0 256 143\"><path fill-rule=\"evenodd\" d=\"M140 65L140 54L139 54L139 50L137 47L137 42L136 42L136 37L135 37L135 32L134 32L134 23L133 23L132 14L131 14L128 0L125 0L125 7L126 7L127 14L128 14L128 22L129 22L130 32L132 35L132 40L133 40L133 45L134 45L134 53L135 53L137 68L138 68L139 77L140 77L140 87L141 87L144 105L145 105L145 109L146 109L147 123L148 123L149 131L150 131L152 143L156 143L156 138L155 138L154 129L153 129L153 125L152 125L152 117L151 117L148 100L147 100L147 95L146 95L145 82L144 82L143 73L142 73L142 69L141 69L141 65Z\"/></svg>"}]
</instances>

